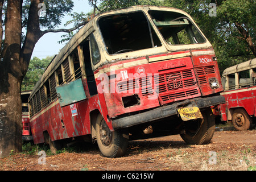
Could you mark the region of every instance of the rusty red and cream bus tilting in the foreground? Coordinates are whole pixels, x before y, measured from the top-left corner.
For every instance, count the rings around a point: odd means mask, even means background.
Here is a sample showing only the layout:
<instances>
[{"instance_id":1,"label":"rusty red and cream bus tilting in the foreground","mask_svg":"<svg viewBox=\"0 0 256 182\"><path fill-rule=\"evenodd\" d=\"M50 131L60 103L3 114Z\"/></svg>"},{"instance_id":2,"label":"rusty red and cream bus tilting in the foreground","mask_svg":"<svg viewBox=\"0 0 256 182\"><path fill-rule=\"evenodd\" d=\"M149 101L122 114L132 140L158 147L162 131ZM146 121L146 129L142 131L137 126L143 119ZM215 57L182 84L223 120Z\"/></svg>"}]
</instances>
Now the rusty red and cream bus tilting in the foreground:
<instances>
[{"instance_id":1,"label":"rusty red and cream bus tilting in the foreground","mask_svg":"<svg viewBox=\"0 0 256 182\"><path fill-rule=\"evenodd\" d=\"M97 15L61 49L30 96L35 143L98 143L126 153L129 140L180 134L205 144L210 107L222 104L214 50L191 16L169 7L133 6Z\"/></svg>"}]
</instances>

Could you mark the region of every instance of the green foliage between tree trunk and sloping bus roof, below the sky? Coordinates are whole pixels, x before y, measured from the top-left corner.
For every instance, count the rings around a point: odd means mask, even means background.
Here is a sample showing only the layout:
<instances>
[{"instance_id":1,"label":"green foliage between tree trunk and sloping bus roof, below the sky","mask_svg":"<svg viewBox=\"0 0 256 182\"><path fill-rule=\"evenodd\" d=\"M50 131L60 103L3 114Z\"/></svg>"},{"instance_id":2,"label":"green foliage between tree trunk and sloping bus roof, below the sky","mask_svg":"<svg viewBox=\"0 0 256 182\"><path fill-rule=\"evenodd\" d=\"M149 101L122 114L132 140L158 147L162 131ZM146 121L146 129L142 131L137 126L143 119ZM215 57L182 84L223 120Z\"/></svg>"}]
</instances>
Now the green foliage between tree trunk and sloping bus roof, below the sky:
<instances>
[{"instance_id":1,"label":"green foliage between tree trunk and sloping bus roof, below the sky","mask_svg":"<svg viewBox=\"0 0 256 182\"><path fill-rule=\"evenodd\" d=\"M42 60L38 57L33 57L28 66L27 74L22 82L22 91L32 90L34 88L36 82L42 77L52 59L53 56L48 56L46 59Z\"/></svg>"}]
</instances>

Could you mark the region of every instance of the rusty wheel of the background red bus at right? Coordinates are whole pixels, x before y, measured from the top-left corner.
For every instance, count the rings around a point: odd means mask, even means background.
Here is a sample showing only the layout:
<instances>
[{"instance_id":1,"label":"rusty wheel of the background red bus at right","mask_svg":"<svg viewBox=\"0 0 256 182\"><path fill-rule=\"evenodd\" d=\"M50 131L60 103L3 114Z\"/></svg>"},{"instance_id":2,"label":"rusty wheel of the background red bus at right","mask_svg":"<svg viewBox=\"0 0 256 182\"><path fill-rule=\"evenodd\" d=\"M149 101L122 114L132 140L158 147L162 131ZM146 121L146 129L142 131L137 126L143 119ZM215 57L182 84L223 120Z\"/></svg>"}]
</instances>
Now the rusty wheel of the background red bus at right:
<instances>
[{"instance_id":1,"label":"rusty wheel of the background red bus at right","mask_svg":"<svg viewBox=\"0 0 256 182\"><path fill-rule=\"evenodd\" d=\"M252 123L252 119L244 109L239 108L234 110L234 113L232 114L232 123L237 130L248 130Z\"/></svg>"}]
</instances>

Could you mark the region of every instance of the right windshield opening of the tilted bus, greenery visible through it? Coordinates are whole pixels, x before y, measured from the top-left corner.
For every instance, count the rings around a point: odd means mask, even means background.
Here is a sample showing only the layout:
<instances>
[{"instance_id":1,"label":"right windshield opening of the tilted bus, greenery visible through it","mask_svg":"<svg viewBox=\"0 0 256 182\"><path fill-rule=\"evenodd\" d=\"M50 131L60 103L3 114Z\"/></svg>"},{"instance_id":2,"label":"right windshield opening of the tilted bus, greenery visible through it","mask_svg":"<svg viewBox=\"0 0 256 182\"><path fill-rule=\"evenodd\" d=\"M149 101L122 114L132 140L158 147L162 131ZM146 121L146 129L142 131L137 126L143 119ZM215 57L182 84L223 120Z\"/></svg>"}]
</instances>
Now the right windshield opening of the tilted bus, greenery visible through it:
<instances>
[{"instance_id":1,"label":"right windshield opening of the tilted bus, greenery visible through it","mask_svg":"<svg viewBox=\"0 0 256 182\"><path fill-rule=\"evenodd\" d=\"M187 16L170 11L148 11L168 44L198 44L205 40Z\"/></svg>"}]
</instances>

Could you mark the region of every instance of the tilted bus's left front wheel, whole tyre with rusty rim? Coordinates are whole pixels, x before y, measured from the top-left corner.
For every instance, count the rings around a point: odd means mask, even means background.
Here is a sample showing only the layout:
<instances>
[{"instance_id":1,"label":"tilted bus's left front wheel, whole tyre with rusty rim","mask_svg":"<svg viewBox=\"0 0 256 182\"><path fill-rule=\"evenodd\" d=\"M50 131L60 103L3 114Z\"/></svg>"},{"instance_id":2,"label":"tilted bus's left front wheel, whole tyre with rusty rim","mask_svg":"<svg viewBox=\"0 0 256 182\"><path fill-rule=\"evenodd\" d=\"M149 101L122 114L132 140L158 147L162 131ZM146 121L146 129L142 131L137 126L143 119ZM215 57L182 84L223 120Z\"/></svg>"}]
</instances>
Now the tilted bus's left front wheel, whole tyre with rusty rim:
<instances>
[{"instance_id":1,"label":"tilted bus's left front wheel, whole tyre with rusty rim","mask_svg":"<svg viewBox=\"0 0 256 182\"><path fill-rule=\"evenodd\" d=\"M110 131L101 114L96 121L96 139L101 153L106 157L120 157L127 151L128 135L122 130Z\"/></svg>"}]
</instances>

